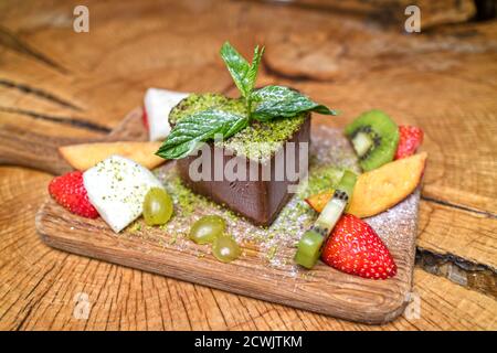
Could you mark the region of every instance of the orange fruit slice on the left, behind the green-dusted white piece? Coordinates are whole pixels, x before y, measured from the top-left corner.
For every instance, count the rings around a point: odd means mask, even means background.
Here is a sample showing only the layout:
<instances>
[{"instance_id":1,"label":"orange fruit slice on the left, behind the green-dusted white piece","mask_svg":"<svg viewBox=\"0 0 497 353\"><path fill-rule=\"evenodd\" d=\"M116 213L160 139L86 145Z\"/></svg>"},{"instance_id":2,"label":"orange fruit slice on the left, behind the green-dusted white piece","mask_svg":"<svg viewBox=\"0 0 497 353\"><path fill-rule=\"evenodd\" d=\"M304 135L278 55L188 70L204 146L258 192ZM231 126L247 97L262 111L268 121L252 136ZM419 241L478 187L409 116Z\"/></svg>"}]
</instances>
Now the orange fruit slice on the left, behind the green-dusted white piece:
<instances>
[{"instance_id":1,"label":"orange fruit slice on the left, behind the green-dusted white piece","mask_svg":"<svg viewBox=\"0 0 497 353\"><path fill-rule=\"evenodd\" d=\"M135 162L154 169L165 162L155 156L160 142L95 142L60 147L62 157L77 170L87 170L104 159L119 154Z\"/></svg>"}]
</instances>

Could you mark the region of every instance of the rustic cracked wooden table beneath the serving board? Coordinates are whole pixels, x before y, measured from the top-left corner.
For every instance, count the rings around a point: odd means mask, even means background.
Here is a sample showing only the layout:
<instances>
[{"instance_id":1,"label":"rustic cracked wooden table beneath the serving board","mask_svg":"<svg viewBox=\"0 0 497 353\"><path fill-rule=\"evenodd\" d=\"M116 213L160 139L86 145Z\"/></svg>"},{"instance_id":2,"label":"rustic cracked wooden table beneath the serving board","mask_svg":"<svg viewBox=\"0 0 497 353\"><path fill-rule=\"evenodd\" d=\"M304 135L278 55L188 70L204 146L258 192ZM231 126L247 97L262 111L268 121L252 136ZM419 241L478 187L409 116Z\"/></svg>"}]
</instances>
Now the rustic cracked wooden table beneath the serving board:
<instances>
[{"instance_id":1,"label":"rustic cracked wooden table beneath the serving board","mask_svg":"<svg viewBox=\"0 0 497 353\"><path fill-rule=\"evenodd\" d=\"M51 249L34 214L52 176L3 165L0 329L497 329L497 23L457 18L408 35L403 23L324 3L87 0L89 33L75 33L77 2L2 1L0 129L98 137L147 87L234 94L220 45L248 55L264 43L260 83L339 108L335 126L378 107L424 129L421 315L369 327ZM73 314L80 292L87 320Z\"/></svg>"}]
</instances>

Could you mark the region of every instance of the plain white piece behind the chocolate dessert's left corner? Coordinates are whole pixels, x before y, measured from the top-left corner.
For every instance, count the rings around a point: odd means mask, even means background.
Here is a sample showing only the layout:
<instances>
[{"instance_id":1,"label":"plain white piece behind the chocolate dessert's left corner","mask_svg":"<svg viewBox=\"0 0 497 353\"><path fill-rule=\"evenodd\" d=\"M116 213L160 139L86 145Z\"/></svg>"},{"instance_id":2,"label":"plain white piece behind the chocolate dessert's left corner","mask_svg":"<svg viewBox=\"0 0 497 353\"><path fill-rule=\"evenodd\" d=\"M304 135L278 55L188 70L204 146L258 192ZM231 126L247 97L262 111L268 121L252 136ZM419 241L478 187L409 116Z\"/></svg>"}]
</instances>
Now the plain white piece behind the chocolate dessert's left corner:
<instances>
[{"instance_id":1,"label":"plain white piece behind the chocolate dessert's left corner","mask_svg":"<svg viewBox=\"0 0 497 353\"><path fill-rule=\"evenodd\" d=\"M188 97L187 93L148 88L145 94L146 127L150 141L163 140L171 131L169 125L169 113L171 109Z\"/></svg>"}]
</instances>

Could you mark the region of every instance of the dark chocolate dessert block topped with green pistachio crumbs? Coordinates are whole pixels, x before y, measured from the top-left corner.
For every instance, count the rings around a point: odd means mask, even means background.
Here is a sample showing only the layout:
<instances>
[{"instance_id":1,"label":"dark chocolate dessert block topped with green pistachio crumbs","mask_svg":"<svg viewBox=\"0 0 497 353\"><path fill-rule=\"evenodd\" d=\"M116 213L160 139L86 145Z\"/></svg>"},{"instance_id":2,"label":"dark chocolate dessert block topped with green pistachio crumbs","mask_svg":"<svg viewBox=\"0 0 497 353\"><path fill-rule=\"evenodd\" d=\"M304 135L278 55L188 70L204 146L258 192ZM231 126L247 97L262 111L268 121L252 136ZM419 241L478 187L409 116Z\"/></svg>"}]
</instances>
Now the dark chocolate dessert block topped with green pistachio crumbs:
<instances>
[{"instance_id":1,"label":"dark chocolate dessert block topped with green pistachio crumbs","mask_svg":"<svg viewBox=\"0 0 497 353\"><path fill-rule=\"evenodd\" d=\"M237 99L220 95L192 96L173 109L172 124L204 103L243 109L236 104ZM197 156L177 160L177 168L183 183L193 192L256 225L267 226L292 197L295 192L292 186L307 172L309 140L308 113L268 122L253 121L230 139L209 142Z\"/></svg>"}]
</instances>

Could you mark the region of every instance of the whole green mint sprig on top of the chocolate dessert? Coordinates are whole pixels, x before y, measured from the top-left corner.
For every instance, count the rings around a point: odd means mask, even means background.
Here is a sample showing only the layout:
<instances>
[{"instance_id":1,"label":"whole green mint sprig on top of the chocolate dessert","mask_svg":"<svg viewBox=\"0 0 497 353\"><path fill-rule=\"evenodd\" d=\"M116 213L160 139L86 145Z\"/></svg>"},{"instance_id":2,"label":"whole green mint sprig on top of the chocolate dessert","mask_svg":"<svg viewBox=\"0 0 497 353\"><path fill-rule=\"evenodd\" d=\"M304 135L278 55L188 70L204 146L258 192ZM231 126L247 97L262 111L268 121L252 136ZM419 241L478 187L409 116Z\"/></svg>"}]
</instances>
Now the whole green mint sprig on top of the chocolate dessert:
<instances>
[{"instance_id":1,"label":"whole green mint sprig on top of the chocolate dessert","mask_svg":"<svg viewBox=\"0 0 497 353\"><path fill-rule=\"evenodd\" d=\"M245 101L246 115L207 109L187 116L172 128L168 139L156 154L165 159L180 159L195 150L200 143L214 139L216 135L226 139L246 128L251 119L269 121L275 118L290 118L304 111L337 115L335 110L313 101L297 90L283 86L255 88L258 66L264 46L254 50L252 63L229 43L220 51L233 82Z\"/></svg>"}]
</instances>

